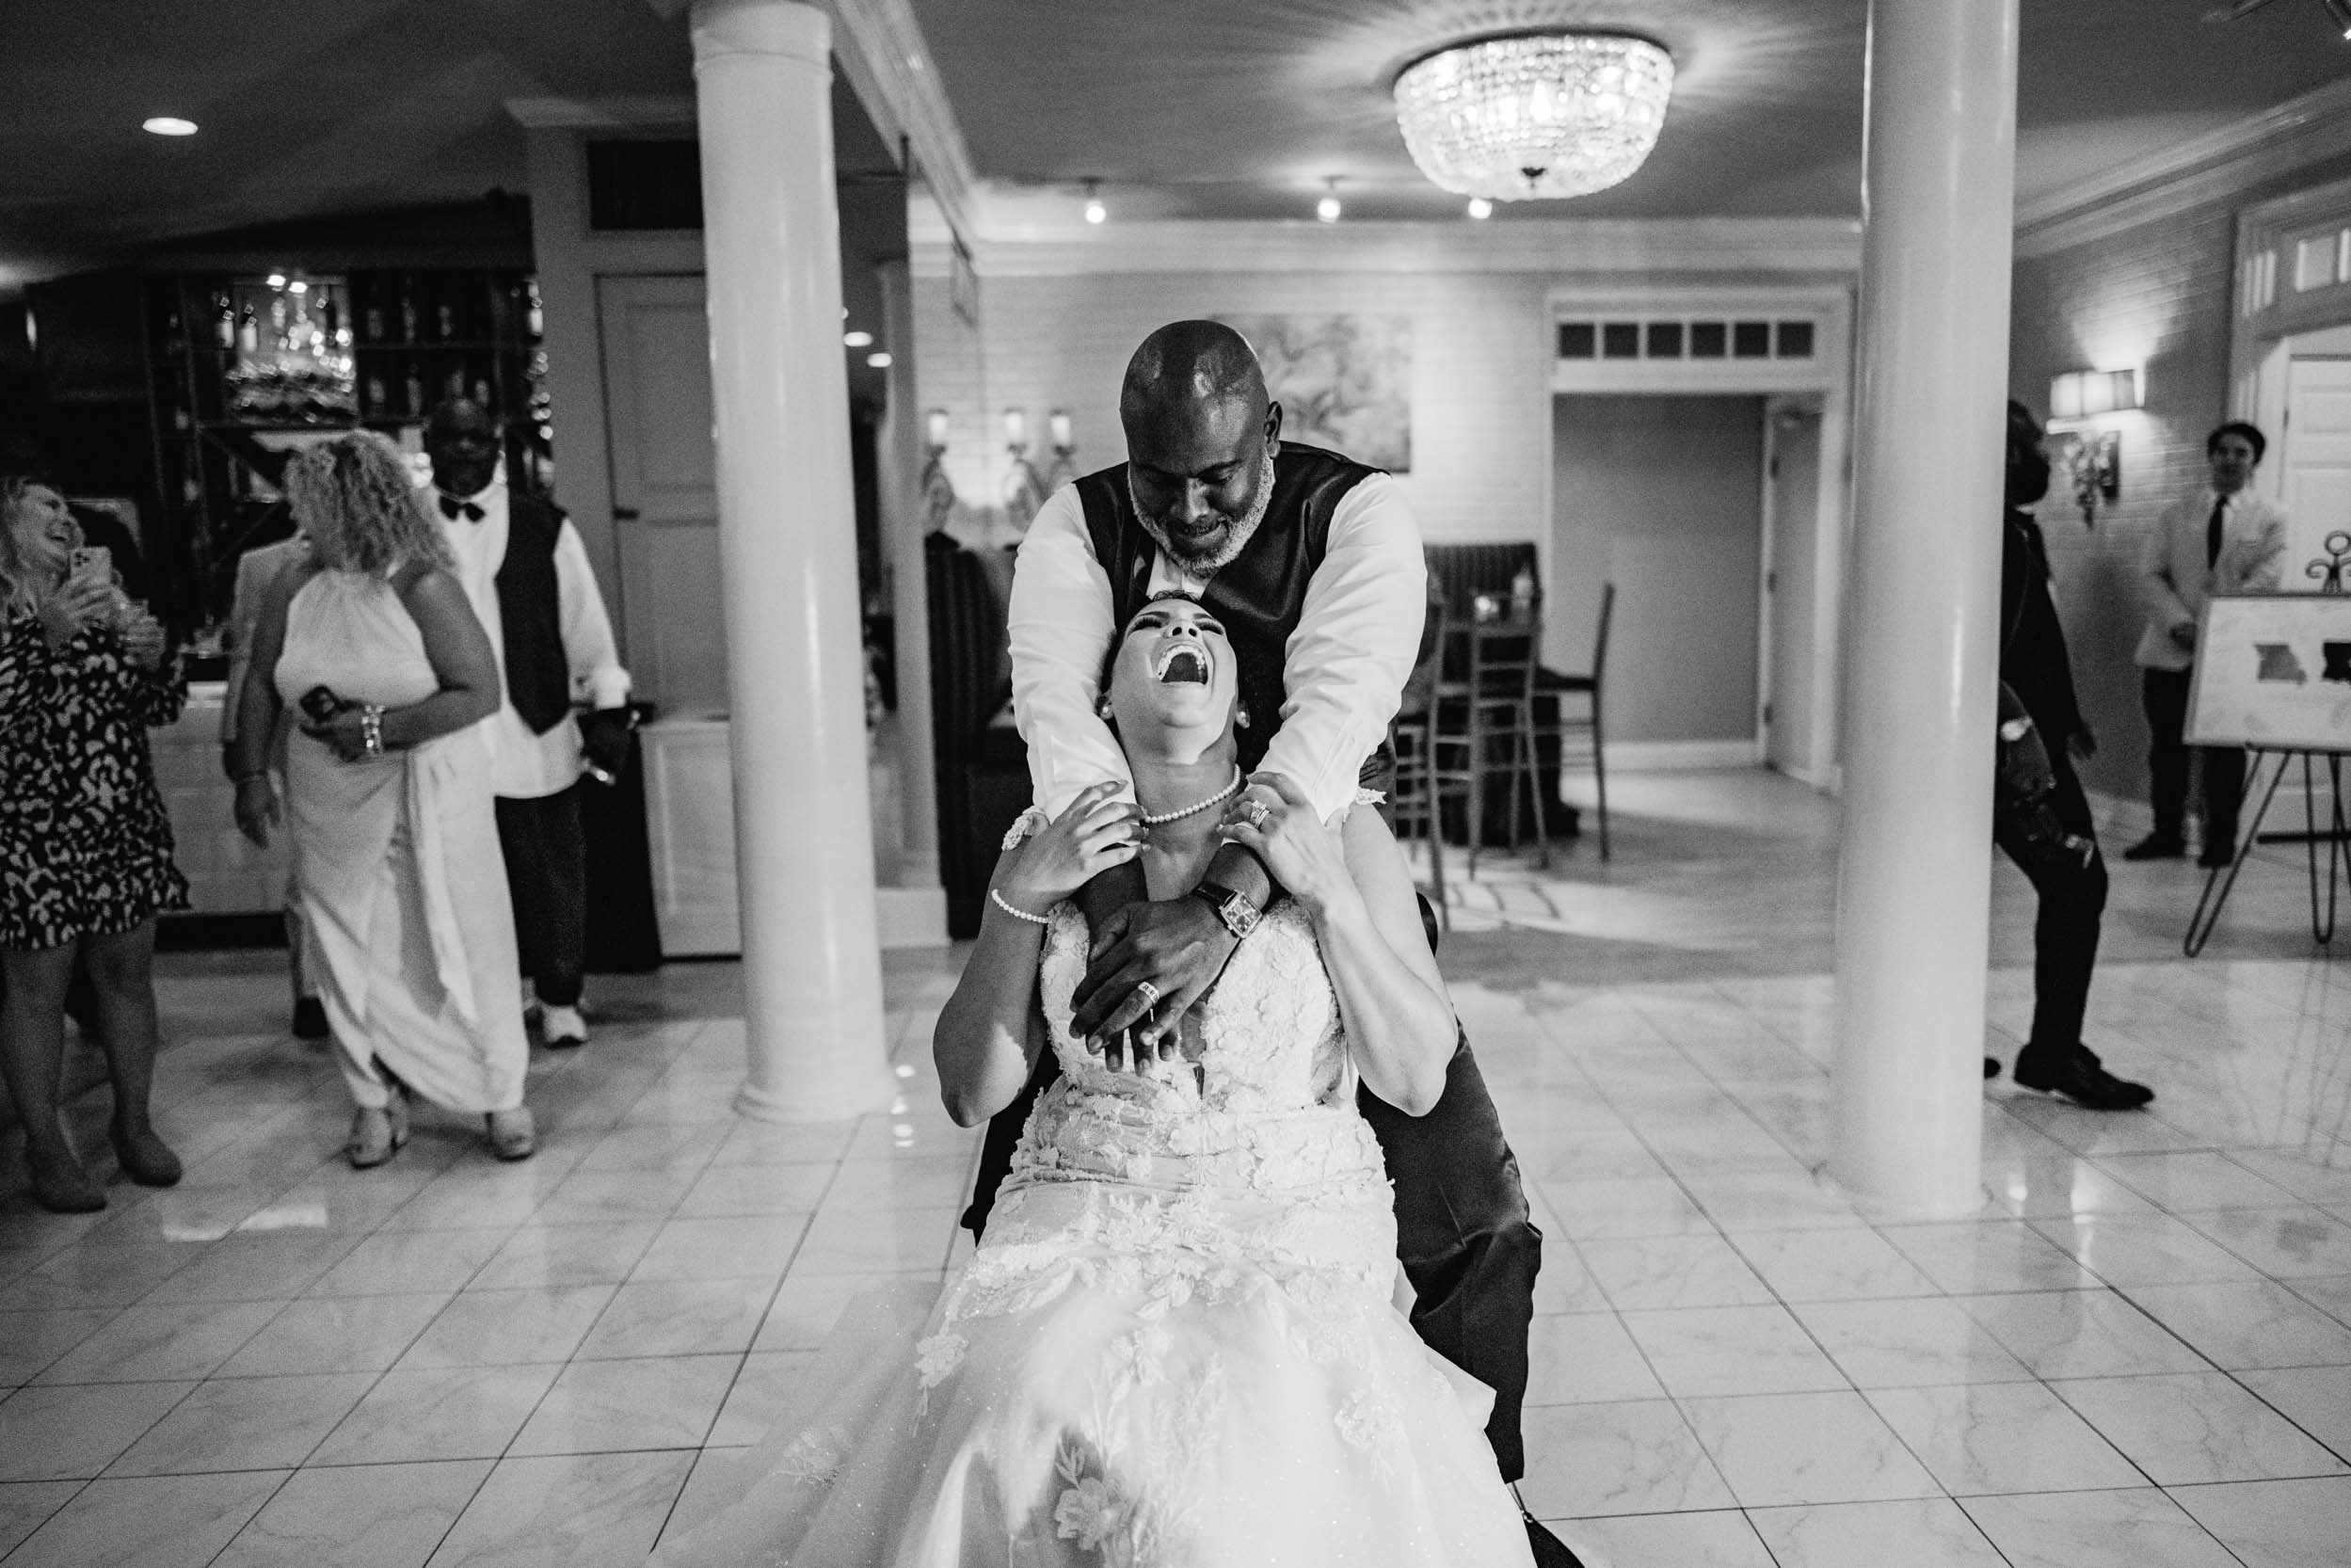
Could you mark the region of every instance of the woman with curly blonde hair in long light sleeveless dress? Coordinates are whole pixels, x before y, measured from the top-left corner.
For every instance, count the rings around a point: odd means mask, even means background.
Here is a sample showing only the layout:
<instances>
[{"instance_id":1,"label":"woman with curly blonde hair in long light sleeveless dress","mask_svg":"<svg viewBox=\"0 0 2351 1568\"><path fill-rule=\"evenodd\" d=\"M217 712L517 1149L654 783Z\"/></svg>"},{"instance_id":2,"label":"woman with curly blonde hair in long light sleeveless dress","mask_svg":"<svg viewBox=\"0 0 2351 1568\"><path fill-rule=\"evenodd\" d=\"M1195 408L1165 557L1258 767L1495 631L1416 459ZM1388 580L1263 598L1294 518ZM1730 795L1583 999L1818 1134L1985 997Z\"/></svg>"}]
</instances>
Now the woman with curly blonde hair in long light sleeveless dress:
<instances>
[{"instance_id":1,"label":"woman with curly blonde hair in long light sleeveless dress","mask_svg":"<svg viewBox=\"0 0 2351 1568\"><path fill-rule=\"evenodd\" d=\"M477 729L498 708L496 656L388 440L322 442L287 463L284 491L310 557L261 607L230 769L237 827L266 844L268 741L296 712L284 820L357 1105L343 1152L360 1168L390 1159L414 1093L482 1117L498 1159L527 1159L522 980Z\"/></svg>"}]
</instances>

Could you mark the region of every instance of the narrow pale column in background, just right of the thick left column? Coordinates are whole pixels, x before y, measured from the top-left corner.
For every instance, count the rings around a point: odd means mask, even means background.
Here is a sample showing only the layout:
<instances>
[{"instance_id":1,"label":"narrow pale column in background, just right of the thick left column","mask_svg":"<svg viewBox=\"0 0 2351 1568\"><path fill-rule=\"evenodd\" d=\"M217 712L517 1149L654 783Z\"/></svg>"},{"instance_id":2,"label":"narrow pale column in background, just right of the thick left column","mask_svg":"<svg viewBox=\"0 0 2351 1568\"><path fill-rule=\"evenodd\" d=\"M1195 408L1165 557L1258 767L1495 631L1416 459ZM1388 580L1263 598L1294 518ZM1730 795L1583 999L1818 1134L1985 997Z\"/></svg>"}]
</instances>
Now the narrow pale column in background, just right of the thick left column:
<instances>
[{"instance_id":1,"label":"narrow pale column in background, just right of the thick left column","mask_svg":"<svg viewBox=\"0 0 2351 1568\"><path fill-rule=\"evenodd\" d=\"M938 773L931 745L931 588L922 536L922 395L915 388L915 277L900 261L882 277L882 341L889 346L889 409L882 418L882 534L898 628L898 797L905 802L900 886L938 886Z\"/></svg>"}]
</instances>

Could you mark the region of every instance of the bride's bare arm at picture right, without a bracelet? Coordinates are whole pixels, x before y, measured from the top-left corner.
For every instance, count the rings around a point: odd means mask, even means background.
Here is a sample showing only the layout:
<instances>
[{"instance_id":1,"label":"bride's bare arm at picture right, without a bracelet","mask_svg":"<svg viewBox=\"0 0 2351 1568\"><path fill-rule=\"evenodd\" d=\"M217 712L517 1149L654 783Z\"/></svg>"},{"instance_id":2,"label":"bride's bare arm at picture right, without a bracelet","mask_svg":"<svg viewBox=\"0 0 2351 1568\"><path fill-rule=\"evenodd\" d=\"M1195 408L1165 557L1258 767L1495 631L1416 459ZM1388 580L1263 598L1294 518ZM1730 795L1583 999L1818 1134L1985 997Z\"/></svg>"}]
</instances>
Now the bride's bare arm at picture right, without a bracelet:
<instances>
[{"instance_id":1,"label":"bride's bare arm at picture right, without a bracelet","mask_svg":"<svg viewBox=\"0 0 2351 1568\"><path fill-rule=\"evenodd\" d=\"M1262 827L1248 823L1253 804L1267 806ZM1364 1084L1404 1114L1425 1117L1446 1091L1458 1030L1420 926L1413 875L1387 823L1357 809L1333 832L1288 778L1258 773L1232 804L1225 835L1265 856L1314 919Z\"/></svg>"}]
</instances>

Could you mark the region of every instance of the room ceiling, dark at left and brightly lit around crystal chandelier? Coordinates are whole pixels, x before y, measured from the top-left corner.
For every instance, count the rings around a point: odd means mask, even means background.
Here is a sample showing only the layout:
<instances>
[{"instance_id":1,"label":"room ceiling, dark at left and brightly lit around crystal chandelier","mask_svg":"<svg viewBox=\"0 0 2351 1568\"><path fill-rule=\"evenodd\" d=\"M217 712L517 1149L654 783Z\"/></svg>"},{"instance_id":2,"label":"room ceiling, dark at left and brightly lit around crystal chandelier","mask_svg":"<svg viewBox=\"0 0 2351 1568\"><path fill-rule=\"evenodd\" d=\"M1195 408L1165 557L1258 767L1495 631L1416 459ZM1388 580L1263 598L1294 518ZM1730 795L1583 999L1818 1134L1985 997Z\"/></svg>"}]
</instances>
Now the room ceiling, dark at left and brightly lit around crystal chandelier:
<instances>
[{"instance_id":1,"label":"room ceiling, dark at left and brightly lit around crystal chandelier","mask_svg":"<svg viewBox=\"0 0 2351 1568\"><path fill-rule=\"evenodd\" d=\"M2318 0L2022 0L2031 195L2351 75ZM1453 219L1387 82L1512 26L1641 31L1679 63L1648 167L1542 216L1853 214L1864 0L832 0L910 7L990 188L1100 179L1119 216ZM903 16L900 16L903 21ZM167 237L522 188L524 96L689 94L647 0L108 0L0 7L0 292ZM186 115L197 136L139 122ZM882 160L844 115L844 155ZM884 115L886 122L886 115ZM1519 216L1523 209L1505 209Z\"/></svg>"}]
</instances>

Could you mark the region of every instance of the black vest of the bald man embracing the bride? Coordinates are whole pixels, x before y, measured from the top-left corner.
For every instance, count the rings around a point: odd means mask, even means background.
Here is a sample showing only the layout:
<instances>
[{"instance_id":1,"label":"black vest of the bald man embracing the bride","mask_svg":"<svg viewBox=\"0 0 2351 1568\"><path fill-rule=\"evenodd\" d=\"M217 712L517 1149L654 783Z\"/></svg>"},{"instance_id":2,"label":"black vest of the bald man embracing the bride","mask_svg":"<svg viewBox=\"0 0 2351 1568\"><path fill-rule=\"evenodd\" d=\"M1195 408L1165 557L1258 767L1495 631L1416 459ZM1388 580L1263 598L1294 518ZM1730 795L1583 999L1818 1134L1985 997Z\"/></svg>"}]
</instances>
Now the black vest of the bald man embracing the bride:
<instances>
[{"instance_id":1,"label":"black vest of the bald man embracing the bride","mask_svg":"<svg viewBox=\"0 0 2351 1568\"><path fill-rule=\"evenodd\" d=\"M1241 766L1265 759L1265 743L1281 729L1281 661L1307 604L1307 583L1331 548L1331 517L1357 484L1380 473L1335 451L1284 442L1274 456L1274 498L1241 552L1208 578L1201 599L1225 623L1239 668L1248 729L1239 733ZM1143 531L1126 489L1126 463L1077 482L1086 508L1093 559L1110 576L1110 616L1124 630L1152 597L1159 543Z\"/></svg>"}]
</instances>

